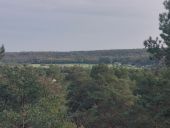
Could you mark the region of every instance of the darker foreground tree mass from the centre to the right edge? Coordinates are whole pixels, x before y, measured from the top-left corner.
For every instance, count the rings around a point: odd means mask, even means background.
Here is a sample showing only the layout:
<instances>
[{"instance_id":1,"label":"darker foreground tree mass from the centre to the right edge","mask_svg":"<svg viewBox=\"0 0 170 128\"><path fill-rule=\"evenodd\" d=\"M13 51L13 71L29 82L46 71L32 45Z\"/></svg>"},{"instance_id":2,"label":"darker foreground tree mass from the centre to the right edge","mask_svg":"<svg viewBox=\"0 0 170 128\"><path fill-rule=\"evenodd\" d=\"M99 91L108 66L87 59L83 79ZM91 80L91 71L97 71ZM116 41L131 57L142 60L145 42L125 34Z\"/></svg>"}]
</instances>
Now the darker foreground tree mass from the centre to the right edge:
<instances>
[{"instance_id":1,"label":"darker foreground tree mass from the centre to the right edge","mask_svg":"<svg viewBox=\"0 0 170 128\"><path fill-rule=\"evenodd\" d=\"M169 128L170 70L96 65L68 72L68 113L78 127Z\"/></svg>"}]
</instances>

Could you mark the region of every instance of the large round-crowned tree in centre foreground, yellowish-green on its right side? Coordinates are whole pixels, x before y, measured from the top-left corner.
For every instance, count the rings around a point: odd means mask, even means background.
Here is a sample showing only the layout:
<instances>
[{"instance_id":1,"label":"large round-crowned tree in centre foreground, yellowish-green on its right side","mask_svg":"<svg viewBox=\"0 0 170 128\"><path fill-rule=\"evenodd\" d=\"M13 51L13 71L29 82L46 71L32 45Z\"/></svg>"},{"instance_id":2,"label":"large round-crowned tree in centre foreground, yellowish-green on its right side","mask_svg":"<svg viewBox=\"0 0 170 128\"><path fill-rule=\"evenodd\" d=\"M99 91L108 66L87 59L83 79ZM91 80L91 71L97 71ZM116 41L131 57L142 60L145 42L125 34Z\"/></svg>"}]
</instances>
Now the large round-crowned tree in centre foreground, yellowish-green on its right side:
<instances>
[{"instance_id":1,"label":"large round-crowned tree in centre foreground, yellowish-green on its right side","mask_svg":"<svg viewBox=\"0 0 170 128\"><path fill-rule=\"evenodd\" d=\"M136 101L135 83L117 78L106 65L94 66L90 76L77 79L82 81L73 80L68 88L69 112L75 123L88 128L125 127L128 110Z\"/></svg>"}]
</instances>

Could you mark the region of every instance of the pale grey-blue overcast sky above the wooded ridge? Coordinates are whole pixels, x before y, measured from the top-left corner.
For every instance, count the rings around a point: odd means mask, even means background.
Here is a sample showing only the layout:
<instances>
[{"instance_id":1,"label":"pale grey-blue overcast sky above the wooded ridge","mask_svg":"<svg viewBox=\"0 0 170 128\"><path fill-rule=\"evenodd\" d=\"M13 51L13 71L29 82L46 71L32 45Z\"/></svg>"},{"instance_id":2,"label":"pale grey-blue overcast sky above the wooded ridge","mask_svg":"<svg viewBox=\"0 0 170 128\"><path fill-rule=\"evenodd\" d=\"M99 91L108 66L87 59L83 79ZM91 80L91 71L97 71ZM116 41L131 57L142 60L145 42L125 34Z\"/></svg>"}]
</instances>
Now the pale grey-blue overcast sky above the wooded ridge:
<instances>
[{"instance_id":1,"label":"pale grey-blue overcast sky above the wooded ridge","mask_svg":"<svg viewBox=\"0 0 170 128\"><path fill-rule=\"evenodd\" d=\"M163 0L0 0L6 51L143 48L159 36Z\"/></svg>"}]
</instances>

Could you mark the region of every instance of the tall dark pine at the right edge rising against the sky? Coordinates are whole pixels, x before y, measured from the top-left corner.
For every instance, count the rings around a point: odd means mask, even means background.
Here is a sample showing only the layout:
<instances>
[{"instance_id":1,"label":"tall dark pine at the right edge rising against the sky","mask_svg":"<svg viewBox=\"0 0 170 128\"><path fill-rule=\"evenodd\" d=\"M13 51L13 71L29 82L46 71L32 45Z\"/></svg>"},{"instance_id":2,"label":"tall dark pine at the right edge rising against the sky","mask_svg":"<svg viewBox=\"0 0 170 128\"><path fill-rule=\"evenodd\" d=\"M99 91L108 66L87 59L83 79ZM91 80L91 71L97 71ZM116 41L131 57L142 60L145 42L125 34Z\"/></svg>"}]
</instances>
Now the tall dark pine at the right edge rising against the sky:
<instances>
[{"instance_id":1,"label":"tall dark pine at the right edge rising against the sky","mask_svg":"<svg viewBox=\"0 0 170 128\"><path fill-rule=\"evenodd\" d=\"M151 37L144 41L145 48L152 54L153 59L161 60L168 67L170 66L170 0L165 0L164 6L166 12L159 16L159 29L161 30L161 38L153 40Z\"/></svg>"}]
</instances>

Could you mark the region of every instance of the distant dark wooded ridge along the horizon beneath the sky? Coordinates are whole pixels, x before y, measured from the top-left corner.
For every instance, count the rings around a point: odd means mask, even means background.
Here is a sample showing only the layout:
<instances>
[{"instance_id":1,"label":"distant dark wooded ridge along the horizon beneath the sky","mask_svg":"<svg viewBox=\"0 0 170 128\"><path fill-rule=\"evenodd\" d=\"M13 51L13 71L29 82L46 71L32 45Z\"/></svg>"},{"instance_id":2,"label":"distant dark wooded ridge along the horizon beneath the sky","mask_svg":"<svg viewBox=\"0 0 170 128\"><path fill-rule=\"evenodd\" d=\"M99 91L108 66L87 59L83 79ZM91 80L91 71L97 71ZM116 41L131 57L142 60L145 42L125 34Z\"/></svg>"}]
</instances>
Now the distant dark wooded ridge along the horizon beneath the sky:
<instances>
[{"instance_id":1,"label":"distant dark wooded ridge along the horizon beneath the sky","mask_svg":"<svg viewBox=\"0 0 170 128\"><path fill-rule=\"evenodd\" d=\"M151 65L145 49L97 50L73 52L8 52L4 63L26 64L130 64Z\"/></svg>"}]
</instances>

